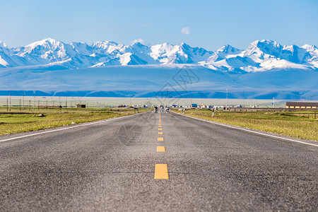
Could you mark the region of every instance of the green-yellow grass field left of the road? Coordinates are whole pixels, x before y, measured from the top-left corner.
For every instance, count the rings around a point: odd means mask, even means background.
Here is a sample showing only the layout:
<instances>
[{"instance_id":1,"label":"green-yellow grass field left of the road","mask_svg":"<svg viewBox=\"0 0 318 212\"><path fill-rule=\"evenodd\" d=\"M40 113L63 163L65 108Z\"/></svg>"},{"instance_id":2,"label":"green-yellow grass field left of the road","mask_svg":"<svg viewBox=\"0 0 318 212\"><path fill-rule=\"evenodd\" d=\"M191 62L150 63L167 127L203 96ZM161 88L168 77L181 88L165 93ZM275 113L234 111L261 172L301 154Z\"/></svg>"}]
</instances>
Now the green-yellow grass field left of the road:
<instances>
[{"instance_id":1,"label":"green-yellow grass field left of the road","mask_svg":"<svg viewBox=\"0 0 318 212\"><path fill-rule=\"evenodd\" d=\"M148 109L139 109L139 112ZM6 108L0 108L0 136L13 134L23 131L35 131L56 126L67 126L71 122L83 123L92 122L100 119L120 117L135 114L136 110L111 110L110 108L64 108L40 109L40 110L19 110L11 108L7 112ZM37 116L44 114L44 117Z\"/></svg>"}]
</instances>

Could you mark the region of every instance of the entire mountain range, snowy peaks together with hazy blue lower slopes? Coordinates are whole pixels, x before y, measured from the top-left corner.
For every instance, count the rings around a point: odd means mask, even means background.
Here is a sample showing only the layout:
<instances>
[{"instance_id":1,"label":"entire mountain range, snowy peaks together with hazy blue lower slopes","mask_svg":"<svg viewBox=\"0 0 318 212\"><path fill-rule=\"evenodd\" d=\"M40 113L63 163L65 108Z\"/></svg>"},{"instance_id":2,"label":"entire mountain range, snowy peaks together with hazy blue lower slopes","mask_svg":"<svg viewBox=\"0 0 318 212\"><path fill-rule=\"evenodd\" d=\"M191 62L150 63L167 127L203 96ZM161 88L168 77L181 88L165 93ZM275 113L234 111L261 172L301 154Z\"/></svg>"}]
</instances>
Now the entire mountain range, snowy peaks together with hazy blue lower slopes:
<instances>
[{"instance_id":1,"label":"entire mountain range, snowy peaks together with hazy blue lower slopes","mask_svg":"<svg viewBox=\"0 0 318 212\"><path fill-rule=\"evenodd\" d=\"M0 95L317 100L317 78L317 47L271 40L214 52L185 43L0 42Z\"/></svg>"}]
</instances>

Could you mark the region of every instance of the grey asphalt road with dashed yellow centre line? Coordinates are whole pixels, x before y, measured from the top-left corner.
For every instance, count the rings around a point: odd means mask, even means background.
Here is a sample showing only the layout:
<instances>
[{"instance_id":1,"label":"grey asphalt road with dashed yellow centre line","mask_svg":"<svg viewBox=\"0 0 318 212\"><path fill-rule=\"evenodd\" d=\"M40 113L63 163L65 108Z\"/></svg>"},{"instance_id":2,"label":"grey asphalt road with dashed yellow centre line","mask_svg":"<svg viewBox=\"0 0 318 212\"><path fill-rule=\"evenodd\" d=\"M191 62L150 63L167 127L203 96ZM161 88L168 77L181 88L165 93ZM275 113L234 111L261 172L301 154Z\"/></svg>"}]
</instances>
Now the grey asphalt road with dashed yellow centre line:
<instances>
[{"instance_id":1,"label":"grey asphalt road with dashed yellow centre line","mask_svg":"<svg viewBox=\"0 0 318 212\"><path fill-rule=\"evenodd\" d=\"M0 137L0 211L318 208L317 146L171 112L57 129Z\"/></svg>"}]
</instances>

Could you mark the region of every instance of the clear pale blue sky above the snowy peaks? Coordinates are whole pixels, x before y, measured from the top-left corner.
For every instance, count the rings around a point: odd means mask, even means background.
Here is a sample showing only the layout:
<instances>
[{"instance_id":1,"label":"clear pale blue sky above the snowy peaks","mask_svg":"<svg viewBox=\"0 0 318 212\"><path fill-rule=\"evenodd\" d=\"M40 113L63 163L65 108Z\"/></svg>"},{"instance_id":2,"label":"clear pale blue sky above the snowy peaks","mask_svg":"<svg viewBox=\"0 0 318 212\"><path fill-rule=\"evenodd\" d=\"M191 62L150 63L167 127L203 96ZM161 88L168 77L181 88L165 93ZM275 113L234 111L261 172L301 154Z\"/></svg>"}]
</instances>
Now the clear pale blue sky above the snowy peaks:
<instances>
[{"instance_id":1,"label":"clear pale blue sky above the snowy peaks","mask_svg":"<svg viewBox=\"0 0 318 212\"><path fill-rule=\"evenodd\" d=\"M208 50L225 44L244 49L262 39L318 46L317 0L0 0L0 5L0 40L9 47L47 37L88 43L186 42Z\"/></svg>"}]
</instances>

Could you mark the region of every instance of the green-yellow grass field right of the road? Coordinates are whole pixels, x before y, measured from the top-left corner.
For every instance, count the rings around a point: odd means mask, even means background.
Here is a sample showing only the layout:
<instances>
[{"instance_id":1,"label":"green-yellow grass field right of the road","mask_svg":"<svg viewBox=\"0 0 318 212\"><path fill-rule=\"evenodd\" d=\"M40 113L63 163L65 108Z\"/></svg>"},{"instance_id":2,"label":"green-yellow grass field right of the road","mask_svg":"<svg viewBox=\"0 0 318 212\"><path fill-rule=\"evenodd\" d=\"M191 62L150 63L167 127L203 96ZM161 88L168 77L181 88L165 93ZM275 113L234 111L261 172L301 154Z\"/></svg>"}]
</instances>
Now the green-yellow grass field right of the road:
<instances>
[{"instance_id":1,"label":"green-yellow grass field right of the road","mask_svg":"<svg viewBox=\"0 0 318 212\"><path fill-rule=\"evenodd\" d=\"M181 113L179 110L173 111ZM214 117L212 117L211 110L186 110L184 114L215 122L318 141L318 119L314 117L314 111L223 112L215 110ZM318 117L318 111L316 114Z\"/></svg>"}]
</instances>

